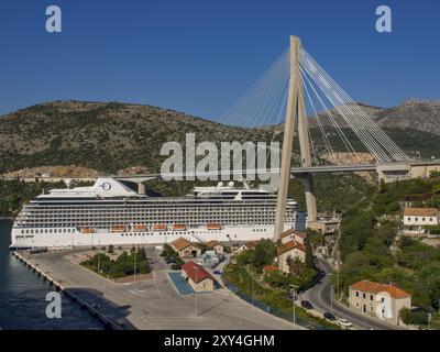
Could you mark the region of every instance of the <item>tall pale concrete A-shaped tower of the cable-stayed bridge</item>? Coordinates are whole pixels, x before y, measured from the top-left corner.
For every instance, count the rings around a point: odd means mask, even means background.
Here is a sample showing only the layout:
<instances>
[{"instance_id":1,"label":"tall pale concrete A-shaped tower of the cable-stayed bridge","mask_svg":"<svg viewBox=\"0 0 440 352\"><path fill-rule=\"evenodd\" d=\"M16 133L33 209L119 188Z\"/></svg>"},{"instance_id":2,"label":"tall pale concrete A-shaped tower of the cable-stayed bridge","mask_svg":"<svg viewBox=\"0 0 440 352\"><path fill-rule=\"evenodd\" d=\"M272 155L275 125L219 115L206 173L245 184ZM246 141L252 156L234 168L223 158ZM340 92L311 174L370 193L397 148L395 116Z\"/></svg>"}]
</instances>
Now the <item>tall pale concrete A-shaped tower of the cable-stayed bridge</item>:
<instances>
[{"instance_id":1,"label":"tall pale concrete A-shaped tower of the cable-stayed bridge","mask_svg":"<svg viewBox=\"0 0 440 352\"><path fill-rule=\"evenodd\" d=\"M308 121L306 107L304 103L304 82L300 75L300 48L299 37L290 36L290 79L286 107L286 122L284 128L284 142L282 151L282 167L278 184L278 198L275 213L275 233L274 240L279 240L284 231L285 212L288 186L290 180L292 150L294 146L294 135L296 123L298 122L298 139L301 156L301 166L311 166L310 141L308 134ZM317 206L314 187L312 174L302 174L302 180L306 187L306 204L308 221L317 220Z\"/></svg>"}]
</instances>

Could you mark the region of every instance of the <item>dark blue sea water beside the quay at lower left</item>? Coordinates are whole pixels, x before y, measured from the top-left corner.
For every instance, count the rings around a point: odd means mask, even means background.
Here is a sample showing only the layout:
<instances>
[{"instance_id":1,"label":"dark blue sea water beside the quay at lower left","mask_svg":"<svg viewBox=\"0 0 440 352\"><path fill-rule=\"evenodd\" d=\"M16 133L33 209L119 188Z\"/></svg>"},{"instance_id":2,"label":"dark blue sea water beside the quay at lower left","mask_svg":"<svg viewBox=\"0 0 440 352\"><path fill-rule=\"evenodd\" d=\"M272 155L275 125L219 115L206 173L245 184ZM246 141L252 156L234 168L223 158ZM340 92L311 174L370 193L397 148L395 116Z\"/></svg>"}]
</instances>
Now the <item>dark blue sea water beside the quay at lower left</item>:
<instances>
[{"instance_id":1,"label":"dark blue sea water beside the quay at lower left","mask_svg":"<svg viewBox=\"0 0 440 352\"><path fill-rule=\"evenodd\" d=\"M54 287L9 250L11 221L0 220L0 330L102 330L87 310L63 296L62 318L48 319L46 294Z\"/></svg>"}]
</instances>

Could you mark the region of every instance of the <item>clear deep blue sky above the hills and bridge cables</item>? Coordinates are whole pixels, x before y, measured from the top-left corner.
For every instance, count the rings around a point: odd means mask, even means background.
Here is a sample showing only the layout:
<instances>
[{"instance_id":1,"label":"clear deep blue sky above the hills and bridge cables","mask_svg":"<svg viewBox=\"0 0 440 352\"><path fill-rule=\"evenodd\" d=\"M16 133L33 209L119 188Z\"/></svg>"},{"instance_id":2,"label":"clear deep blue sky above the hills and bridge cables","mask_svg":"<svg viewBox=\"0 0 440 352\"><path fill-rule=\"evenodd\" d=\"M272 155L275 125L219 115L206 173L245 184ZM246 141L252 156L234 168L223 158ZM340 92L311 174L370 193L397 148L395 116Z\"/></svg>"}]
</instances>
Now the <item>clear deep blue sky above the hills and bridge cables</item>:
<instances>
[{"instance_id":1,"label":"clear deep blue sky above the hills and bridge cables","mask_svg":"<svg viewBox=\"0 0 440 352\"><path fill-rule=\"evenodd\" d=\"M63 10L63 33L45 9ZM393 33L375 9L393 10ZM216 119L289 34L359 101L440 98L438 0L2 0L0 113L57 99L154 105Z\"/></svg>"}]
</instances>

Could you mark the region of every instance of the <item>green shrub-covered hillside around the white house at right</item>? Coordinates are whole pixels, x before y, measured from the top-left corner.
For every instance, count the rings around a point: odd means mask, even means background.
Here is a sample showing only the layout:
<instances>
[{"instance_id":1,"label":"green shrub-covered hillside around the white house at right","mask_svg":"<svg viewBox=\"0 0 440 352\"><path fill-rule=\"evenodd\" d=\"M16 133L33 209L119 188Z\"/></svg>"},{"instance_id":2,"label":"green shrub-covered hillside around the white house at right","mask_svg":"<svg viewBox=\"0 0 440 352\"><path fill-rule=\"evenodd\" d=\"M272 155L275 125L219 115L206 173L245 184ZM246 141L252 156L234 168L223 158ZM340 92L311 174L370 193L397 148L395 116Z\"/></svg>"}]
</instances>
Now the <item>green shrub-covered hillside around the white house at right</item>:
<instances>
[{"instance_id":1,"label":"green shrub-covered hillside around the white house at right","mask_svg":"<svg viewBox=\"0 0 440 352\"><path fill-rule=\"evenodd\" d=\"M407 238L396 241L402 216L399 200L409 195L426 199L414 204L415 207L440 208L440 175L381 185L363 202L344 212L339 283L345 295L349 286L361 279L394 283L411 294L413 305L425 311L407 312L407 318L426 324L427 312L440 309L440 249ZM440 328L437 314L433 323Z\"/></svg>"}]
</instances>

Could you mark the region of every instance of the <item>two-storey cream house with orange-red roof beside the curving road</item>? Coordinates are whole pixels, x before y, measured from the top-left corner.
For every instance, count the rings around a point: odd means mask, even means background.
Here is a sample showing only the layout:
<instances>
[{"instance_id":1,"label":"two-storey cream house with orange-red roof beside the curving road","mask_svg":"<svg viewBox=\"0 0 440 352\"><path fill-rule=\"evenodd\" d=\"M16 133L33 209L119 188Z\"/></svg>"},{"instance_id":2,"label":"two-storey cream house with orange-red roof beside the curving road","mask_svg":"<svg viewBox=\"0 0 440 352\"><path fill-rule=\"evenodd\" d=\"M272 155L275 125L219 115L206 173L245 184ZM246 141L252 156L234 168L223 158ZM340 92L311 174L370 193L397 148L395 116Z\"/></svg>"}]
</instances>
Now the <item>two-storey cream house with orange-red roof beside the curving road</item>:
<instances>
[{"instance_id":1,"label":"two-storey cream house with orange-red roof beside the curving road","mask_svg":"<svg viewBox=\"0 0 440 352\"><path fill-rule=\"evenodd\" d=\"M392 284L363 279L350 286L350 308L361 314L399 323L403 308L411 308L411 295Z\"/></svg>"}]
</instances>

